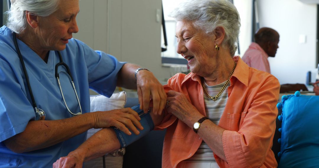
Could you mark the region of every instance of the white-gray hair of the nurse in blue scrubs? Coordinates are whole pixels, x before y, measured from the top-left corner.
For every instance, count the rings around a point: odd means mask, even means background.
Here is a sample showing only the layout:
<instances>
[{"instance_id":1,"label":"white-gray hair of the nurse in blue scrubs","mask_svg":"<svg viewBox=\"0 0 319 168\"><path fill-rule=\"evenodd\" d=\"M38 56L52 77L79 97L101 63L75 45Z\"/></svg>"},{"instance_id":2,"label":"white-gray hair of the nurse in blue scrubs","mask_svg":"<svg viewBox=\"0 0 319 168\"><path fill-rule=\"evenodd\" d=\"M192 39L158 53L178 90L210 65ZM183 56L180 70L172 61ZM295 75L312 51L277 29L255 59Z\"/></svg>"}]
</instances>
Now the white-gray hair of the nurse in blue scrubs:
<instances>
[{"instance_id":1,"label":"white-gray hair of the nurse in blue scrubs","mask_svg":"<svg viewBox=\"0 0 319 168\"><path fill-rule=\"evenodd\" d=\"M8 14L7 27L13 32L20 33L26 29L26 11L34 15L46 17L57 10L60 0L12 0Z\"/></svg>"}]
</instances>

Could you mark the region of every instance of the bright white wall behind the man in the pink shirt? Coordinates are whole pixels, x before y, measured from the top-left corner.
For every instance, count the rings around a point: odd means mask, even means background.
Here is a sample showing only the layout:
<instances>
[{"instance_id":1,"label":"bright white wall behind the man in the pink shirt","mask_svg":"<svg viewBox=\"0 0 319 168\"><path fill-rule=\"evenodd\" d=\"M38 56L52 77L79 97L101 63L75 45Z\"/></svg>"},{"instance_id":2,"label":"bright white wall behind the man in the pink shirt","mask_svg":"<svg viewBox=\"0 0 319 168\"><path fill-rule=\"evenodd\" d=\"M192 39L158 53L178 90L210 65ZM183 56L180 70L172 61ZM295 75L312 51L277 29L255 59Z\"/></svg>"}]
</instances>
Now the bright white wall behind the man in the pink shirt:
<instances>
[{"instance_id":1,"label":"bright white wall behind the man in the pink shirt","mask_svg":"<svg viewBox=\"0 0 319 168\"><path fill-rule=\"evenodd\" d=\"M268 58L271 74L281 84L305 83L315 69L317 5L299 0L258 0L260 27L271 27L280 35L274 58ZM306 35L306 43L299 36Z\"/></svg>"}]
</instances>

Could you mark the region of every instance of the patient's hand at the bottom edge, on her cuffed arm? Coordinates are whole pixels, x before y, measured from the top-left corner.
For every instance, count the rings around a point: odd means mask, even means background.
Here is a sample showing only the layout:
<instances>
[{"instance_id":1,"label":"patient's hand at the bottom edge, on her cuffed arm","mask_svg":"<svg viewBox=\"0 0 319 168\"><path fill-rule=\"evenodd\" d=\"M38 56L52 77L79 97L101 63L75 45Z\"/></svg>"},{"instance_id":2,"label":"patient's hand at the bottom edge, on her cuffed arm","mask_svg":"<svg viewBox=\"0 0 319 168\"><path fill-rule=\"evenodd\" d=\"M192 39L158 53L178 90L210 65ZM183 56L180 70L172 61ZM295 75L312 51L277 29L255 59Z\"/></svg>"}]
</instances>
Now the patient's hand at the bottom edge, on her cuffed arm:
<instances>
[{"instance_id":1,"label":"patient's hand at the bottom edge, on her cuffed arm","mask_svg":"<svg viewBox=\"0 0 319 168\"><path fill-rule=\"evenodd\" d=\"M70 152L68 156L60 157L53 163L53 168L82 168L84 159L79 154Z\"/></svg>"}]
</instances>

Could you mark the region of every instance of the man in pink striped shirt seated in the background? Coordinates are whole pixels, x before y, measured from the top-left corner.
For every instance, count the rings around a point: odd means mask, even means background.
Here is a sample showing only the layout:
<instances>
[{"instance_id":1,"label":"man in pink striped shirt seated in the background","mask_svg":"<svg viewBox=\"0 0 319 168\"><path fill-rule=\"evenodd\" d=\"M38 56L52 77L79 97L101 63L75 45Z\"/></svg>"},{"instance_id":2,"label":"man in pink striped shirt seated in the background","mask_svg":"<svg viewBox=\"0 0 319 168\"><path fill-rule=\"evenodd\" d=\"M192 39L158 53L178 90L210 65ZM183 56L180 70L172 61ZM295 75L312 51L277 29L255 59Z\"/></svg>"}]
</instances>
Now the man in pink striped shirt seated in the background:
<instances>
[{"instance_id":1,"label":"man in pink striped shirt seated in the background","mask_svg":"<svg viewBox=\"0 0 319 168\"><path fill-rule=\"evenodd\" d=\"M279 33L269 27L262 27L255 33L255 42L252 42L244 53L242 60L249 66L261 71L270 72L268 57L275 57L279 48ZM283 84L280 93L288 91L308 91L304 84Z\"/></svg>"}]
</instances>

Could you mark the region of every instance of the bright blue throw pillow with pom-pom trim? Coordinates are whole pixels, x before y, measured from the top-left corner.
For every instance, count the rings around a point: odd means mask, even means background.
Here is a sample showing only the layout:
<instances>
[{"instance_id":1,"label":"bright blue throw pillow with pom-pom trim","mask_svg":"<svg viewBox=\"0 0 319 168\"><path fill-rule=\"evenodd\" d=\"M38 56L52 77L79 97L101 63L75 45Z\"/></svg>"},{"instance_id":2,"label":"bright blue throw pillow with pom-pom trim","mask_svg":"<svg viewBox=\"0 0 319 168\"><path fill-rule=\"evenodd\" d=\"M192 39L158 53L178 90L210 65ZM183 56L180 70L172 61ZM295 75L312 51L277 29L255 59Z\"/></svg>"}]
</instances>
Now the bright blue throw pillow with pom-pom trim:
<instances>
[{"instance_id":1,"label":"bright blue throw pillow with pom-pom trim","mask_svg":"<svg viewBox=\"0 0 319 168\"><path fill-rule=\"evenodd\" d=\"M319 167L319 96L284 95L278 167Z\"/></svg>"}]
</instances>

